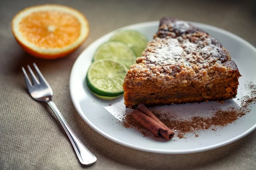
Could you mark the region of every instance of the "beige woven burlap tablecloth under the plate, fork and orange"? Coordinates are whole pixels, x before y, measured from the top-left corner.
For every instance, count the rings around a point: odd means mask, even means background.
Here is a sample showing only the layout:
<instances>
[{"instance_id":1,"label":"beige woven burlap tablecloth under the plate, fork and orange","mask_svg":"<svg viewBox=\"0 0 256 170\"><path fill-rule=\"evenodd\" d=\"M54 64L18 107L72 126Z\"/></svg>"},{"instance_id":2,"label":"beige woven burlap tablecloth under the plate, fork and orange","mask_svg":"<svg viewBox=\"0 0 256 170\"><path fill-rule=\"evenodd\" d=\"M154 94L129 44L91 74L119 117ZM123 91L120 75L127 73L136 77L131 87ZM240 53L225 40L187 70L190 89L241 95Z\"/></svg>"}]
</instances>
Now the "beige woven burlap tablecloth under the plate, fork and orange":
<instances>
[{"instance_id":1,"label":"beige woven burlap tablecloth under the plate, fork and orange","mask_svg":"<svg viewBox=\"0 0 256 170\"><path fill-rule=\"evenodd\" d=\"M21 9L58 3L83 12L90 22L87 41L69 57L43 60L26 54L11 33ZM69 93L72 65L91 42L122 26L174 16L224 28L256 45L256 13L249 1L0 1L0 170L256 169L256 131L215 150L164 155L116 144L91 129L76 112ZM254 11L254 12L253 12ZM46 105L26 91L21 67L36 62L54 91L54 101L79 139L98 158L82 167L64 130Z\"/></svg>"}]
</instances>

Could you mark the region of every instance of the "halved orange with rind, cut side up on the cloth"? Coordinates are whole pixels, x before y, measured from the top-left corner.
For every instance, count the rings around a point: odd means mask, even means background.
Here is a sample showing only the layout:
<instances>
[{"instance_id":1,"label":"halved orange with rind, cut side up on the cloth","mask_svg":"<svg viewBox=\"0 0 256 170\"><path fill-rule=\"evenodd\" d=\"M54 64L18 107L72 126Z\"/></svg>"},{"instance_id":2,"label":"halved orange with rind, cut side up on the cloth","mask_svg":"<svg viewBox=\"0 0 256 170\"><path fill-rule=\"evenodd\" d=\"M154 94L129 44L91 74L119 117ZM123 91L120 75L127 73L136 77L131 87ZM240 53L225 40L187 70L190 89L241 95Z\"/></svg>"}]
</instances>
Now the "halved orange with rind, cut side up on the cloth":
<instances>
[{"instance_id":1,"label":"halved orange with rind, cut side up on the cloth","mask_svg":"<svg viewBox=\"0 0 256 170\"><path fill-rule=\"evenodd\" d=\"M89 30L81 12L62 5L32 6L12 19L12 33L20 46L45 59L70 54L87 39Z\"/></svg>"}]
</instances>

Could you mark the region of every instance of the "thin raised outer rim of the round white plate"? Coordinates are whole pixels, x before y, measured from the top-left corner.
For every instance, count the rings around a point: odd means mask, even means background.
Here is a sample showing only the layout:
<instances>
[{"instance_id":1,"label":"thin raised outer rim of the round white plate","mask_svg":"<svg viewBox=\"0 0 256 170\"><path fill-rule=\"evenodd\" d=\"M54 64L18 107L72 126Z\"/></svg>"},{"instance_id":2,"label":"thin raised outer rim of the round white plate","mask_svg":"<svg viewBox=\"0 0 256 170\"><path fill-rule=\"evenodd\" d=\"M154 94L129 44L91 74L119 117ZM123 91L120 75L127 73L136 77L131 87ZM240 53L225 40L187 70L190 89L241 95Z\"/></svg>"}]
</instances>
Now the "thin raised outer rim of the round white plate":
<instances>
[{"instance_id":1,"label":"thin raised outer rim of the round white plate","mask_svg":"<svg viewBox=\"0 0 256 170\"><path fill-rule=\"evenodd\" d=\"M211 25L208 25L208 24L204 24L204 23L198 23L198 22L192 22L192 21L187 21L189 23L192 23L192 24L195 24L197 26L203 26L203 27L208 27L208 28L211 28L211 29L215 29L223 34L228 34L229 36L235 38L236 40L238 41L241 41L242 43L244 43L245 45L247 45L248 47L250 47L253 51L255 51L256 53L256 48L250 44L250 42L247 42L246 40L244 40L243 38L239 37L238 35L236 34L233 34L229 31L226 31L222 28L218 28L218 27L215 27L215 26L211 26ZM141 150L141 151L145 151L145 152L151 152L151 153L162 153L162 154L187 154L187 153L199 153L199 152L204 152L204 151L207 151L207 150L213 150L213 149L216 149L218 147L223 147L227 144L230 144L230 143L233 143L241 138L243 138L244 136L248 135L249 133L251 133L253 130L256 129L256 124L253 125L253 127L250 127L250 129L246 130L244 133L240 134L239 136L236 136L234 138L231 138L225 142L221 142L221 143L218 143L218 144L212 144L212 145L209 145L207 147L199 147L199 148L196 148L196 149L185 149L185 150L163 150L163 149L149 149L148 147L141 147L141 146L137 146L137 145L134 145L134 144L129 144L128 142L123 142L119 139L116 139L115 137L109 135L108 133L105 133L103 132L101 129L99 129L98 127L96 127L96 125L94 125L92 122L90 122L90 120L87 118L87 116L85 116L85 114L83 113L83 111L81 110L81 108L79 108L77 105L76 105L76 99L75 97L73 96L73 92L72 92L72 87L73 87L73 83L72 83L72 75L74 74L74 67L77 65L77 63L79 62L79 58L81 58L83 56L83 53L85 53L85 51L87 50L87 48L90 48L91 46L93 46L96 42L98 41L101 41L101 39L103 39L105 36L108 36L110 34L113 34L117 31L120 31L120 30L125 30L125 29L129 29L131 27L137 27L137 26L149 26L149 25L158 25L159 24L159 21L149 21L149 22L143 22L143 23L136 23L136 24L132 24L132 25L128 25L128 26L125 26L125 27L122 27L122 28L118 28L114 31L111 31L109 32L108 34L105 34L103 35L102 37L99 37L98 39L96 39L95 41L93 41L90 45L88 45L80 54L79 54L79 57L76 58L76 61L74 62L73 66L72 66L72 69L71 69L71 72L70 72L70 81L69 81L69 89L70 89L70 96L71 96L71 100L73 102L73 105L74 107L76 108L76 111L79 113L79 115L81 116L81 118L84 120L84 122L87 123L87 125L89 125L93 130L95 130L97 133L99 133L100 135L104 136L105 138L113 141L113 142L116 142L117 144L121 144L122 146L125 146L125 147L129 147L129 148L132 148L132 149L136 149L136 150Z\"/></svg>"}]
</instances>

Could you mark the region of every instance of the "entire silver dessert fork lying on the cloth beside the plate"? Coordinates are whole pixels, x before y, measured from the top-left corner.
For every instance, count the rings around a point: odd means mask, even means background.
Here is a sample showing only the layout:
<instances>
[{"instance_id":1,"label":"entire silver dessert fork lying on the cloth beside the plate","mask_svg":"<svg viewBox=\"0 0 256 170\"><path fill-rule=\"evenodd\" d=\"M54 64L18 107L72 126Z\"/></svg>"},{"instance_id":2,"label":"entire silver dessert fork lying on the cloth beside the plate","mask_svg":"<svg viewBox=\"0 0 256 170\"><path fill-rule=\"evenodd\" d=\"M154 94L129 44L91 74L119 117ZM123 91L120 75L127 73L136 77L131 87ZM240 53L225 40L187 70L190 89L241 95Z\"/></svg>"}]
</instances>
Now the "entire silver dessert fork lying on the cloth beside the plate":
<instances>
[{"instance_id":1,"label":"entire silver dessert fork lying on the cloth beside the plate","mask_svg":"<svg viewBox=\"0 0 256 170\"><path fill-rule=\"evenodd\" d=\"M35 77L34 72L29 68L29 73L31 75L32 83L25 71L25 68L22 67L22 71L24 74L26 86L28 88L29 94L32 96L33 99L38 100L40 102L46 102L52 111L57 116L58 120L61 122L62 127L67 133L68 138L70 139L71 144L74 147L74 150L76 151L76 155L81 162L81 164L84 165L91 165L96 162L96 157L93 155L93 153L90 152L83 144L82 142L76 137L73 130L71 130L70 126L67 124L64 117L61 115L61 112L58 110L55 103L52 101L52 88L44 78L41 71L38 69L37 65L33 63L35 67L35 71L38 75L39 80L37 77Z\"/></svg>"}]
</instances>

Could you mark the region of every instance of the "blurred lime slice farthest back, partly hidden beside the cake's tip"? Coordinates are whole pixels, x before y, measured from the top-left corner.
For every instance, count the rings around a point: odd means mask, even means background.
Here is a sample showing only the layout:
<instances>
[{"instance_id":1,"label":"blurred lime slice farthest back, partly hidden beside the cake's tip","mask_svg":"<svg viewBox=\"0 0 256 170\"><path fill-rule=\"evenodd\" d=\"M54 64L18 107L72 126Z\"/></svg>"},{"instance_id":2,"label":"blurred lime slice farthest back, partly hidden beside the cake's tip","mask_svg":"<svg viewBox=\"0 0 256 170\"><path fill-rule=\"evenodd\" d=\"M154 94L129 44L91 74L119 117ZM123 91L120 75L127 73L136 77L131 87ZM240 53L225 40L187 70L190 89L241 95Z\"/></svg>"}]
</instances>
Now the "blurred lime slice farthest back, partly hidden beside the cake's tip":
<instances>
[{"instance_id":1,"label":"blurred lime slice farthest back, partly hidden beside the cake's tip","mask_svg":"<svg viewBox=\"0 0 256 170\"><path fill-rule=\"evenodd\" d=\"M132 30L118 32L111 38L111 40L116 40L127 44L128 47L135 52L136 57L141 56L141 53L145 49L148 42L145 35Z\"/></svg>"}]
</instances>

